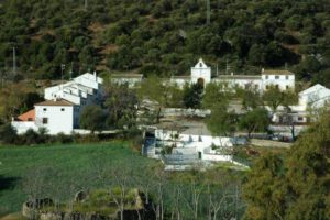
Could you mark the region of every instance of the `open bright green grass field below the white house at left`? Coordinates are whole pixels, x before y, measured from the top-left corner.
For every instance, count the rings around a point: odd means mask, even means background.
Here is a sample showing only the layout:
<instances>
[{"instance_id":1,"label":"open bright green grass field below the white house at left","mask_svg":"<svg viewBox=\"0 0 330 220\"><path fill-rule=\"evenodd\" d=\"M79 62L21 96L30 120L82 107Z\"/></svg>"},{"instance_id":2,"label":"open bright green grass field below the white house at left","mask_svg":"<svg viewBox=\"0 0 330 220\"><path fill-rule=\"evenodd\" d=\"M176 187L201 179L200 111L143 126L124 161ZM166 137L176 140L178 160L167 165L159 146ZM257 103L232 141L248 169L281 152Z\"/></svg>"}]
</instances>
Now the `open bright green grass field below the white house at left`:
<instances>
[{"instance_id":1,"label":"open bright green grass field below the white house at left","mask_svg":"<svg viewBox=\"0 0 330 220\"><path fill-rule=\"evenodd\" d=\"M20 211L28 199L23 189L25 177L34 175L35 170L51 173L45 177L47 183L66 188L75 186L78 190L79 187L98 187L96 166L134 164L141 170L155 163L133 151L128 142L3 146L0 147L0 216Z\"/></svg>"}]
</instances>

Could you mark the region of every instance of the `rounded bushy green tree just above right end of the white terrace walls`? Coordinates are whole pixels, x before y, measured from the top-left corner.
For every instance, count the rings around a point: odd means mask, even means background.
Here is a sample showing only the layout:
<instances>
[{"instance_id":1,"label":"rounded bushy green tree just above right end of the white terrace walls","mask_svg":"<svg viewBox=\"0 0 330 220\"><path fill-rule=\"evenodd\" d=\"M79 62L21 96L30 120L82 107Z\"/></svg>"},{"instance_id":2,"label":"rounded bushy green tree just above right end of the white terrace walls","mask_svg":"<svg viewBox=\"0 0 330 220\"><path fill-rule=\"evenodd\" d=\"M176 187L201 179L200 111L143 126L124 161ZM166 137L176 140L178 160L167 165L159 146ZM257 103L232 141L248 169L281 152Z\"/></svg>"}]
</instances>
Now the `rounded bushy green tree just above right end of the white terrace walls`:
<instances>
[{"instance_id":1,"label":"rounded bushy green tree just above right end of the white terrace walls","mask_svg":"<svg viewBox=\"0 0 330 220\"><path fill-rule=\"evenodd\" d=\"M245 116L240 119L239 125L241 129L248 131L248 136L252 132L264 132L270 125L268 111L263 108L253 109L248 111Z\"/></svg>"}]
</instances>

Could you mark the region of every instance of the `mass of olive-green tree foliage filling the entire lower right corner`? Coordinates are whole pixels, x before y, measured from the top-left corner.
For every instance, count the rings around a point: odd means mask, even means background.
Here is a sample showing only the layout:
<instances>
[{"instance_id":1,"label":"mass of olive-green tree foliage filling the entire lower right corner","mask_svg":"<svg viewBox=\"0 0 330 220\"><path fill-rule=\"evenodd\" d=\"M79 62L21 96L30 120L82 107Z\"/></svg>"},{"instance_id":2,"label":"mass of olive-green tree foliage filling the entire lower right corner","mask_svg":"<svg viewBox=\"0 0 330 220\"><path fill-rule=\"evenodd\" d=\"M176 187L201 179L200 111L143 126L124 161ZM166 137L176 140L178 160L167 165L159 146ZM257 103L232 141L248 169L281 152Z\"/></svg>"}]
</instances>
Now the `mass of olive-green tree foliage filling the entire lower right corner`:
<instances>
[{"instance_id":1,"label":"mass of olive-green tree foliage filling the entire lower right corner","mask_svg":"<svg viewBox=\"0 0 330 220\"><path fill-rule=\"evenodd\" d=\"M283 157L262 156L244 185L246 219L328 219L330 111Z\"/></svg>"}]
</instances>

